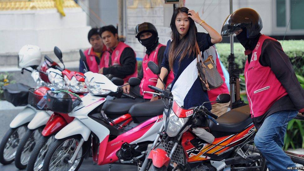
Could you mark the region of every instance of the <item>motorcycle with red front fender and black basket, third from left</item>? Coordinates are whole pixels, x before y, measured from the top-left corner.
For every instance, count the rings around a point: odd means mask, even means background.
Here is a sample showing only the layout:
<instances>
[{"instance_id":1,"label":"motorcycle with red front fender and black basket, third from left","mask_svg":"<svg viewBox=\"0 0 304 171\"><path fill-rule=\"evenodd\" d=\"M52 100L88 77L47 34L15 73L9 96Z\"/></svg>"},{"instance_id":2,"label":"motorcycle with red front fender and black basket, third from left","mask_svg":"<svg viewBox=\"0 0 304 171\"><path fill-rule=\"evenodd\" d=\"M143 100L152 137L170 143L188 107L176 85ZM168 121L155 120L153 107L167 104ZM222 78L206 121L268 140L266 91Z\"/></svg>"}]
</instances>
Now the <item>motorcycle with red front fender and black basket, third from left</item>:
<instances>
[{"instance_id":1,"label":"motorcycle with red front fender and black basket, third from left","mask_svg":"<svg viewBox=\"0 0 304 171\"><path fill-rule=\"evenodd\" d=\"M62 53L58 47L54 48L54 52L59 60L63 63ZM48 70L50 75L53 75L53 78L62 78L64 79L65 84L70 92L76 93L80 98L84 96L84 93L87 92L87 88L84 86L84 75L80 72L70 71L64 69L61 74L58 70L50 69ZM58 75L57 75L58 74ZM49 91L49 93L54 93L55 91ZM63 98L64 100L64 98ZM77 100L77 99L76 99ZM43 166L43 161L47 150L51 142L55 139L54 135L61 130L64 126L74 120L74 117L67 115L71 109L69 106L65 106L64 109L58 109L56 104L49 102L47 104L50 111L54 113L50 116L50 119L47 121L45 127L43 128L41 134L42 137L38 141L38 144L31 152L29 162L27 164L27 170L41 170ZM64 111L65 110L65 111ZM61 113L64 112L64 113Z\"/></svg>"}]
</instances>

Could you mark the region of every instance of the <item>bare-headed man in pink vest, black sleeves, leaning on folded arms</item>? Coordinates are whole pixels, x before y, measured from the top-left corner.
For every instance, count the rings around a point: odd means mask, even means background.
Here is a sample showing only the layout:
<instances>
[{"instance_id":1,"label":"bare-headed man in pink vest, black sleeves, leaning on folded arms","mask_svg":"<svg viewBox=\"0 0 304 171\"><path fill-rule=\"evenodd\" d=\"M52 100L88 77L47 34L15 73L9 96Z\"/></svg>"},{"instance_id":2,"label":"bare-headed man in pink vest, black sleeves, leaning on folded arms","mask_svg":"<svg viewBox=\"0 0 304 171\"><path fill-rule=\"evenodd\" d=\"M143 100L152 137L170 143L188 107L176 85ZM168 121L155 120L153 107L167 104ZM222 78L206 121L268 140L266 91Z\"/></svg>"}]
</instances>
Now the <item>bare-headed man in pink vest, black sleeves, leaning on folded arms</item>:
<instances>
[{"instance_id":1,"label":"bare-headed man in pink vest, black sleeves, leaning on folded arms","mask_svg":"<svg viewBox=\"0 0 304 171\"><path fill-rule=\"evenodd\" d=\"M117 29L112 25L103 26L101 37L107 50L100 60L98 73L122 78L125 82L131 77L137 77L135 52L130 46L118 41Z\"/></svg>"}]
</instances>

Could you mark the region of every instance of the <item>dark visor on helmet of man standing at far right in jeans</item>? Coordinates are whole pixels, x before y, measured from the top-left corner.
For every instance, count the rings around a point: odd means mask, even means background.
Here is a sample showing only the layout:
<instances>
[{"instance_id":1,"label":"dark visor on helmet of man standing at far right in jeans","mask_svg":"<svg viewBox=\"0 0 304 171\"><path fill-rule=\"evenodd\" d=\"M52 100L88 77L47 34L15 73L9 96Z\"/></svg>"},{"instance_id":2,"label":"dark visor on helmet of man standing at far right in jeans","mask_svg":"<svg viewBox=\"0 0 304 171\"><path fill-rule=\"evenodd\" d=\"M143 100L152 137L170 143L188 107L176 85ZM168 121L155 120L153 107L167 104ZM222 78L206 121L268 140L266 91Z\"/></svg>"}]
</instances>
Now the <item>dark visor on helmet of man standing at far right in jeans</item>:
<instances>
[{"instance_id":1,"label":"dark visor on helmet of man standing at far right in jeans","mask_svg":"<svg viewBox=\"0 0 304 171\"><path fill-rule=\"evenodd\" d=\"M235 32L240 29L245 28L246 23L244 23L244 20L244 17L233 14L229 15L222 26L221 36L227 37L235 34Z\"/></svg>"}]
</instances>

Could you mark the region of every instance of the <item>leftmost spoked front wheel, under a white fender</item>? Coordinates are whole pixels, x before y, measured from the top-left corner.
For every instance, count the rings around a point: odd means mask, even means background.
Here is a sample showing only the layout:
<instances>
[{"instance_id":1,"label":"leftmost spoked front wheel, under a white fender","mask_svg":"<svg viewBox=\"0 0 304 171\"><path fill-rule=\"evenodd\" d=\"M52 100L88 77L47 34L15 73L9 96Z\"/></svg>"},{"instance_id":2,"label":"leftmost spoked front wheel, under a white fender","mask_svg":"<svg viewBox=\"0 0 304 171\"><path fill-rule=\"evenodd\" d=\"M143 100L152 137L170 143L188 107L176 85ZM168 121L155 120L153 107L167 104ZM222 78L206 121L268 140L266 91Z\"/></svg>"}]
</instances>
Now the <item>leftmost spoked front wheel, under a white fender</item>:
<instances>
[{"instance_id":1,"label":"leftmost spoked front wheel, under a white fender","mask_svg":"<svg viewBox=\"0 0 304 171\"><path fill-rule=\"evenodd\" d=\"M26 133L26 124L17 128L10 128L4 135L0 144L0 163L10 164L14 161L20 140Z\"/></svg>"}]
</instances>

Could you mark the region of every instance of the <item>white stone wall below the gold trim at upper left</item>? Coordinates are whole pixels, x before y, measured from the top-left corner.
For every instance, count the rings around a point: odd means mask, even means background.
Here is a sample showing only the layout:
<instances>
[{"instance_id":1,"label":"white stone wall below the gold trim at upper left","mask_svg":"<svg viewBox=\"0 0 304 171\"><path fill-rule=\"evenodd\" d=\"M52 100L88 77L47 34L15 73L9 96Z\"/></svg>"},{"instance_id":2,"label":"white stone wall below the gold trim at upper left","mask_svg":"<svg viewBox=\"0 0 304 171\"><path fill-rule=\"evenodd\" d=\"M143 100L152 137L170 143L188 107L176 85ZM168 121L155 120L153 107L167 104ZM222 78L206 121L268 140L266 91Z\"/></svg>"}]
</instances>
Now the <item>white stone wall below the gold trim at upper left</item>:
<instances>
[{"instance_id":1,"label":"white stone wall below the gold trim at upper left","mask_svg":"<svg viewBox=\"0 0 304 171\"><path fill-rule=\"evenodd\" d=\"M58 46L63 52L88 48L87 17L81 8L0 11L0 55L17 54L23 45L38 45L42 52Z\"/></svg>"}]
</instances>

